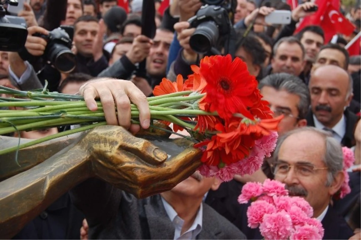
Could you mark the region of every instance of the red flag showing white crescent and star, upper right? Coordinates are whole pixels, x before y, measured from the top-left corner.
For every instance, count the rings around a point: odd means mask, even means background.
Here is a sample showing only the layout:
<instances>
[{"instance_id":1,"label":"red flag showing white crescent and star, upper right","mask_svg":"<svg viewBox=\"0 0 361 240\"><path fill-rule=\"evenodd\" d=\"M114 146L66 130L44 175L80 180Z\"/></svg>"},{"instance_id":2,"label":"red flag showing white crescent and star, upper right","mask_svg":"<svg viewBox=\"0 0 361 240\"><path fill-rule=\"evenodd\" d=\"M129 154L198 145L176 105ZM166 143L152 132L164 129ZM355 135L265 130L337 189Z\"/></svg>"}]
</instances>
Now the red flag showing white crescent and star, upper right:
<instances>
[{"instance_id":1,"label":"red flag showing white crescent and star, upper right","mask_svg":"<svg viewBox=\"0 0 361 240\"><path fill-rule=\"evenodd\" d=\"M319 26L325 32L325 42L329 42L335 34L342 33L349 36L355 30L355 26L332 4L327 6Z\"/></svg>"}]
</instances>

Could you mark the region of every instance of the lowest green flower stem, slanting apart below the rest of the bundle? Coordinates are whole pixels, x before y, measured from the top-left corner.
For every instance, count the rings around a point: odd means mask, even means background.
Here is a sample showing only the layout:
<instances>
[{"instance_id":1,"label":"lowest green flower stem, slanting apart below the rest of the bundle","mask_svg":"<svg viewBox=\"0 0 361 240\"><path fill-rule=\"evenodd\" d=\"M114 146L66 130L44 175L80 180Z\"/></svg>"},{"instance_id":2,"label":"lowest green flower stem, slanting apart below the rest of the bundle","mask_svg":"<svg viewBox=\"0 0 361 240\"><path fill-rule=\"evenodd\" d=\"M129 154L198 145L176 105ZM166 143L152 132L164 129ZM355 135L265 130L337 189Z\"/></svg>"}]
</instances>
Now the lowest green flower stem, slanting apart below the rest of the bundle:
<instances>
[{"instance_id":1,"label":"lowest green flower stem, slanting apart below the rest of the bundle","mask_svg":"<svg viewBox=\"0 0 361 240\"><path fill-rule=\"evenodd\" d=\"M3 150L0 150L0 155L5 154L5 153L9 153L9 152L13 152L13 151L16 151L18 149L30 147L30 146L33 146L35 144L43 143L43 142L46 142L46 141L51 140L51 139L60 138L60 137L70 135L70 134L73 134L73 133L79 133L81 131L86 131L86 130L95 128L96 126L103 126L103 125L106 125L106 122L91 124L91 125L87 125L87 126L82 126L80 128L71 129L71 130L68 130L68 131L63 131L61 133L56 133L56 134L47 136L45 138L40 138L40 139L36 139L36 140L28 142L28 143L20 144L19 146L16 146L16 147L11 147L11 148L6 148L6 149L3 149Z\"/></svg>"}]
</instances>

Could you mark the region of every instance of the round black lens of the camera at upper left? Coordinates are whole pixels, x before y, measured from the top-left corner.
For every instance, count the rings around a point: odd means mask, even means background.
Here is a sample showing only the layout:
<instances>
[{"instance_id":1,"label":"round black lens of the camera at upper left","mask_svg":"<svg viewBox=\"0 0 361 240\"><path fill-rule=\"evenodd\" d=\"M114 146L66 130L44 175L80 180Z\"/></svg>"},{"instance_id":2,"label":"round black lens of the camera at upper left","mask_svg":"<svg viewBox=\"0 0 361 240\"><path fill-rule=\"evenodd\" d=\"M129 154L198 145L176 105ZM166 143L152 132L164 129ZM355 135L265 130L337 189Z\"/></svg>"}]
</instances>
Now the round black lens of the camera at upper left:
<instances>
[{"instance_id":1,"label":"round black lens of the camera at upper left","mask_svg":"<svg viewBox=\"0 0 361 240\"><path fill-rule=\"evenodd\" d=\"M76 66L73 52L68 47L58 43L49 46L48 60L56 69L63 73L73 71Z\"/></svg>"}]
</instances>

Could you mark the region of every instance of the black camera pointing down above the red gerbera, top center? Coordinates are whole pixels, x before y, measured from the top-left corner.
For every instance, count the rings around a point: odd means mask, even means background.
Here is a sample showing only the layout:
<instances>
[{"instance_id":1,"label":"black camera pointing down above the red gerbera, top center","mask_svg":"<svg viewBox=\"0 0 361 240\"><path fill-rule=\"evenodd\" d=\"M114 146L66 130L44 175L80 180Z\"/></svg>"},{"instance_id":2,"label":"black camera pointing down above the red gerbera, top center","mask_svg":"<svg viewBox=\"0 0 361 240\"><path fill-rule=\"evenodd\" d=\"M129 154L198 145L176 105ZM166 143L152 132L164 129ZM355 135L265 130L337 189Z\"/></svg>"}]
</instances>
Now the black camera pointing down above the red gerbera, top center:
<instances>
[{"instance_id":1,"label":"black camera pointing down above the red gerbera, top center","mask_svg":"<svg viewBox=\"0 0 361 240\"><path fill-rule=\"evenodd\" d=\"M190 38L191 48L206 54L212 49L221 47L222 43L229 43L234 35L233 20L237 0L201 0L203 6L196 15L188 20L196 31ZM229 49L229 46L225 46ZM228 53L228 52L226 52Z\"/></svg>"}]
</instances>

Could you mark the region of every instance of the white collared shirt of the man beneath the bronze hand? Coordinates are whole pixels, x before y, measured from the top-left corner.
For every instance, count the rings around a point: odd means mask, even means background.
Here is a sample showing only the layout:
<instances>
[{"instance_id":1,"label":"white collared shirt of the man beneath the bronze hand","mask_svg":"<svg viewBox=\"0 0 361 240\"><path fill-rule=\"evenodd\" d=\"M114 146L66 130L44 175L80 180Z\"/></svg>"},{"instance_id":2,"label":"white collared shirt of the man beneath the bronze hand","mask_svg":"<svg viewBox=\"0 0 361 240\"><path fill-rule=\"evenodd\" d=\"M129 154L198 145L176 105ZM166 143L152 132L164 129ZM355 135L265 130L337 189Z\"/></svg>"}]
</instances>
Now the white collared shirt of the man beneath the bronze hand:
<instances>
[{"instance_id":1,"label":"white collared shirt of the man beneath the bronze hand","mask_svg":"<svg viewBox=\"0 0 361 240\"><path fill-rule=\"evenodd\" d=\"M197 235L202 230L202 221L203 221L203 205L201 203L201 206L199 207L199 210L197 212L197 216L194 219L194 222L192 226L181 235L182 227L184 224L184 220L180 218L175 212L174 208L170 206L170 204L162 198L162 202L165 208L165 211L168 214L168 217L170 218L170 221L172 221L175 232L174 232L174 240L196 240Z\"/></svg>"}]
</instances>

